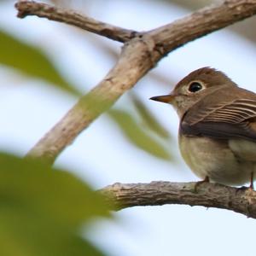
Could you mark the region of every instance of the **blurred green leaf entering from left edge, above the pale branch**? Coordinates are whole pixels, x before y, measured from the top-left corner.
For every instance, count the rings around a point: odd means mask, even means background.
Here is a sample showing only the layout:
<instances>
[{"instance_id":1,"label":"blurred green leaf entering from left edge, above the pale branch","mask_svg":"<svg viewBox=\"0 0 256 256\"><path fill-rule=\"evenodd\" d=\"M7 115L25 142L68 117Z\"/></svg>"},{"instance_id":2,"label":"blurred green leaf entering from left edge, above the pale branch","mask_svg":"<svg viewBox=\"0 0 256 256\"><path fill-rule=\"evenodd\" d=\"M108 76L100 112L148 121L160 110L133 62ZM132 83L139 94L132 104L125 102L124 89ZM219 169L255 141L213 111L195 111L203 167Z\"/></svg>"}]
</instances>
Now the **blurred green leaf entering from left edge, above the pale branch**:
<instances>
[{"instance_id":1,"label":"blurred green leaf entering from left edge, above the pale branch","mask_svg":"<svg viewBox=\"0 0 256 256\"><path fill-rule=\"evenodd\" d=\"M21 42L3 31L0 31L0 49L0 63L3 65L14 67L35 79L44 79L61 90L79 96L79 91L61 77L41 49Z\"/></svg>"}]
</instances>

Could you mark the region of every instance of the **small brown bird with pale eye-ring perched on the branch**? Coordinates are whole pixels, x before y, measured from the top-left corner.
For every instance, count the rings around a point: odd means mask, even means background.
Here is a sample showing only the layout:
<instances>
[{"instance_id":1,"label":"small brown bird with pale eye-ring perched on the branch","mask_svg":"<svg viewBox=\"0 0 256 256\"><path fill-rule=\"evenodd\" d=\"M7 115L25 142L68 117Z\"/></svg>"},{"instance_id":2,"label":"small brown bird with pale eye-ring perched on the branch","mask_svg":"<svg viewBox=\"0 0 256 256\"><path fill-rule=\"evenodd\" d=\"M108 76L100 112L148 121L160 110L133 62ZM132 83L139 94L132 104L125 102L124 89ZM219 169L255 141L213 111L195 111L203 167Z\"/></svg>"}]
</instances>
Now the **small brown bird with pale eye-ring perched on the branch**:
<instances>
[{"instance_id":1,"label":"small brown bird with pale eye-ring perched on the branch","mask_svg":"<svg viewBox=\"0 0 256 256\"><path fill-rule=\"evenodd\" d=\"M241 186L256 173L256 94L225 73L201 67L168 95L150 98L171 104L179 117L183 160L202 182Z\"/></svg>"}]
</instances>

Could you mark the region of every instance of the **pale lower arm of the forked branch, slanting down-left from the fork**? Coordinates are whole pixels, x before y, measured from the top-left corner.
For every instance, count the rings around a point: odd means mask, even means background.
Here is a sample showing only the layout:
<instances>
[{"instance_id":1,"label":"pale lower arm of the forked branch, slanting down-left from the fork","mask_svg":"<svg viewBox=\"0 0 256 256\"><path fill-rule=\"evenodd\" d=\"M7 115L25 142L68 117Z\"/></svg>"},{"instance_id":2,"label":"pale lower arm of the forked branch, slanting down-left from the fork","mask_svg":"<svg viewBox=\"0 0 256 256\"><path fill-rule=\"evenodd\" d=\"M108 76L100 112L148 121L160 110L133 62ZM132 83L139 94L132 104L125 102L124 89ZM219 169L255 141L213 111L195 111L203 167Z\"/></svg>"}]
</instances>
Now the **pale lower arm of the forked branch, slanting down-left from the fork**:
<instances>
[{"instance_id":1,"label":"pale lower arm of the forked branch, slanting down-left from the fork","mask_svg":"<svg viewBox=\"0 0 256 256\"><path fill-rule=\"evenodd\" d=\"M110 108L119 96L131 89L152 67L152 61L148 58L152 52L152 45L149 44L149 40L144 41L143 38L134 38L125 45L119 61L106 78L80 98L61 121L28 152L27 157L53 163L58 154L72 143L85 127ZM139 54L135 55L135 52Z\"/></svg>"}]
</instances>

